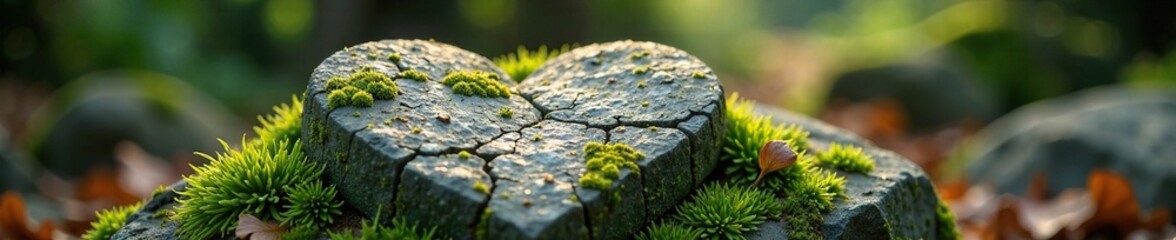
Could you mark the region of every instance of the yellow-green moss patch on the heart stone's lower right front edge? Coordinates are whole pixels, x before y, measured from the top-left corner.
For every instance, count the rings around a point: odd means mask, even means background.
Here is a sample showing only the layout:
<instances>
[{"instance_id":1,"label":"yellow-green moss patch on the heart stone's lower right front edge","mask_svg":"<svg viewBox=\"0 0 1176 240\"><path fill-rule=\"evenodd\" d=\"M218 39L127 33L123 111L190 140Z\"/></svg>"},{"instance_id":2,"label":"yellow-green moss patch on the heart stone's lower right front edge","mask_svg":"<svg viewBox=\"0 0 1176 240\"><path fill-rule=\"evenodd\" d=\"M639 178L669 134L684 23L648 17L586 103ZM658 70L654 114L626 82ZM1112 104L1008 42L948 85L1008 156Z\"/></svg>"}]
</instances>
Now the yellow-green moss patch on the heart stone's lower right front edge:
<instances>
[{"instance_id":1,"label":"yellow-green moss patch on the heart stone's lower right front edge","mask_svg":"<svg viewBox=\"0 0 1176 240\"><path fill-rule=\"evenodd\" d=\"M580 176L580 186L608 189L613 186L613 180L621 176L621 168L640 173L637 161L644 158L644 154L626 144L608 145L590 141L584 145L584 159L587 159L584 166L588 172Z\"/></svg>"}]
</instances>

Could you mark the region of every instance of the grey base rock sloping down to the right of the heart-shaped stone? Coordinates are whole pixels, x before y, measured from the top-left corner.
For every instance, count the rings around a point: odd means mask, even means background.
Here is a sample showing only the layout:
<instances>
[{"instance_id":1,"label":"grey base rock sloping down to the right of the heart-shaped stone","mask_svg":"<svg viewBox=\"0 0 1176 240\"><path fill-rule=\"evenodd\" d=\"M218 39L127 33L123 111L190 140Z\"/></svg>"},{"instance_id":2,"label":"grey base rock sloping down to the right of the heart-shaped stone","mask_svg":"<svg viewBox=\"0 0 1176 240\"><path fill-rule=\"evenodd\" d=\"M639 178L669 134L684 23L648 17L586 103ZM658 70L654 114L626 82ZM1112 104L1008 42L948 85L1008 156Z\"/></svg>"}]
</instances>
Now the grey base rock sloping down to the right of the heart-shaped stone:
<instances>
[{"instance_id":1,"label":"grey base rock sloping down to the right of the heart-shaped stone","mask_svg":"<svg viewBox=\"0 0 1176 240\"><path fill-rule=\"evenodd\" d=\"M938 196L930 178L915 164L878 148L853 133L818 120L770 106L756 106L773 122L796 124L811 132L809 153L828 149L831 142L861 147L875 160L869 174L837 172L847 178L844 200L824 215L821 233L826 239L934 239L938 227L935 209ZM787 239L781 220L767 221L748 239Z\"/></svg>"}]
</instances>

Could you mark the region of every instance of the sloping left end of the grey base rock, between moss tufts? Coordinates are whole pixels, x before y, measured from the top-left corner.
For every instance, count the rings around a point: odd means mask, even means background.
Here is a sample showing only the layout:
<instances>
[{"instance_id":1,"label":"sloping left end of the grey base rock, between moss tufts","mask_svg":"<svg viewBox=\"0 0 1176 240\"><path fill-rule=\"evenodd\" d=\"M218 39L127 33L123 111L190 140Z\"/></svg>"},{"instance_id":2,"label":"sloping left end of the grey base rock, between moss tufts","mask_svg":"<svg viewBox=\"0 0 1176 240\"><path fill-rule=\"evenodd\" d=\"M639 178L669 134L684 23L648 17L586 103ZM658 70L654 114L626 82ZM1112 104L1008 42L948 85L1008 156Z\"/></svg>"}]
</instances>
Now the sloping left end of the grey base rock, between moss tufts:
<instances>
[{"instance_id":1,"label":"sloping left end of the grey base rock, between moss tufts","mask_svg":"<svg viewBox=\"0 0 1176 240\"><path fill-rule=\"evenodd\" d=\"M139 212L135 212L127 218L127 224L123 225L119 232L115 232L111 239L179 239L179 236L175 235L175 229L180 227L180 224L168 220L167 212L171 212L179 205L179 202L175 201L175 196L179 196L176 192L182 192L187 188L187 181L180 180L165 189L162 193L152 196L143 204Z\"/></svg>"}]
</instances>

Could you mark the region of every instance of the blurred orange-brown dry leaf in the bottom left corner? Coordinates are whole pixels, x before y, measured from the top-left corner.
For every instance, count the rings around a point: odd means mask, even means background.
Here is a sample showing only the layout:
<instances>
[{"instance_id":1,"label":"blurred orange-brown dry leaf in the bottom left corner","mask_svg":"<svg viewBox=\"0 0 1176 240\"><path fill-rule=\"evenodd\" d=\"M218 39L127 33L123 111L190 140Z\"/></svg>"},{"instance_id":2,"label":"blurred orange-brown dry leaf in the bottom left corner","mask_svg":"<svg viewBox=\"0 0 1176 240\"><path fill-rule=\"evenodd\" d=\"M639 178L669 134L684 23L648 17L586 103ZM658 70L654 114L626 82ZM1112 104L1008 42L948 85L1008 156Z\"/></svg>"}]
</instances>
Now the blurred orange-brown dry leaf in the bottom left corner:
<instances>
[{"instance_id":1,"label":"blurred orange-brown dry leaf in the bottom left corner","mask_svg":"<svg viewBox=\"0 0 1176 240\"><path fill-rule=\"evenodd\" d=\"M33 232L28 226L28 214L25 200L13 191L5 191L0 196L0 236L4 239L53 239L53 224L41 222L41 228Z\"/></svg>"}]
</instances>

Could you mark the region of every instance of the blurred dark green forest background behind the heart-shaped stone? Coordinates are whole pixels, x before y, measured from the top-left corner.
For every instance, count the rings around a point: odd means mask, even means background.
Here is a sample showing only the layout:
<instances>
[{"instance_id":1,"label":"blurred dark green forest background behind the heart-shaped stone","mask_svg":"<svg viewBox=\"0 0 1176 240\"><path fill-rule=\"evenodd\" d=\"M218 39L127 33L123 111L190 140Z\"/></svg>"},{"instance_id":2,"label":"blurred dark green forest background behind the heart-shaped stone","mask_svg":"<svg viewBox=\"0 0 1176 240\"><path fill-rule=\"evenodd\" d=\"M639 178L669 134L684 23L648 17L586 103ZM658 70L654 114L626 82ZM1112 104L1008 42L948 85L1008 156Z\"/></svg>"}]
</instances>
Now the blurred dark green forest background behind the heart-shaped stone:
<instances>
[{"instance_id":1,"label":"blurred dark green forest background behind the heart-shaped stone","mask_svg":"<svg viewBox=\"0 0 1176 240\"><path fill-rule=\"evenodd\" d=\"M5 174L15 179L6 180L5 189L40 185L32 181L41 181L35 180L41 168L68 180L92 175L91 166L125 164L112 149L134 148L120 148L121 141L189 162L193 149L238 138L255 115L300 94L327 55L380 39L435 39L489 58L517 46L657 41L706 61L728 93L824 119L924 167L946 159L955 140L1034 100L1117 82L1176 81L1176 1L0 0L0 146L4 162L14 165L0 168L19 172ZM109 94L147 104L86 104ZM105 131L79 131L94 128ZM947 142L928 140L943 133L956 134ZM158 181L186 173L183 164L175 166L175 174Z\"/></svg>"}]
</instances>

